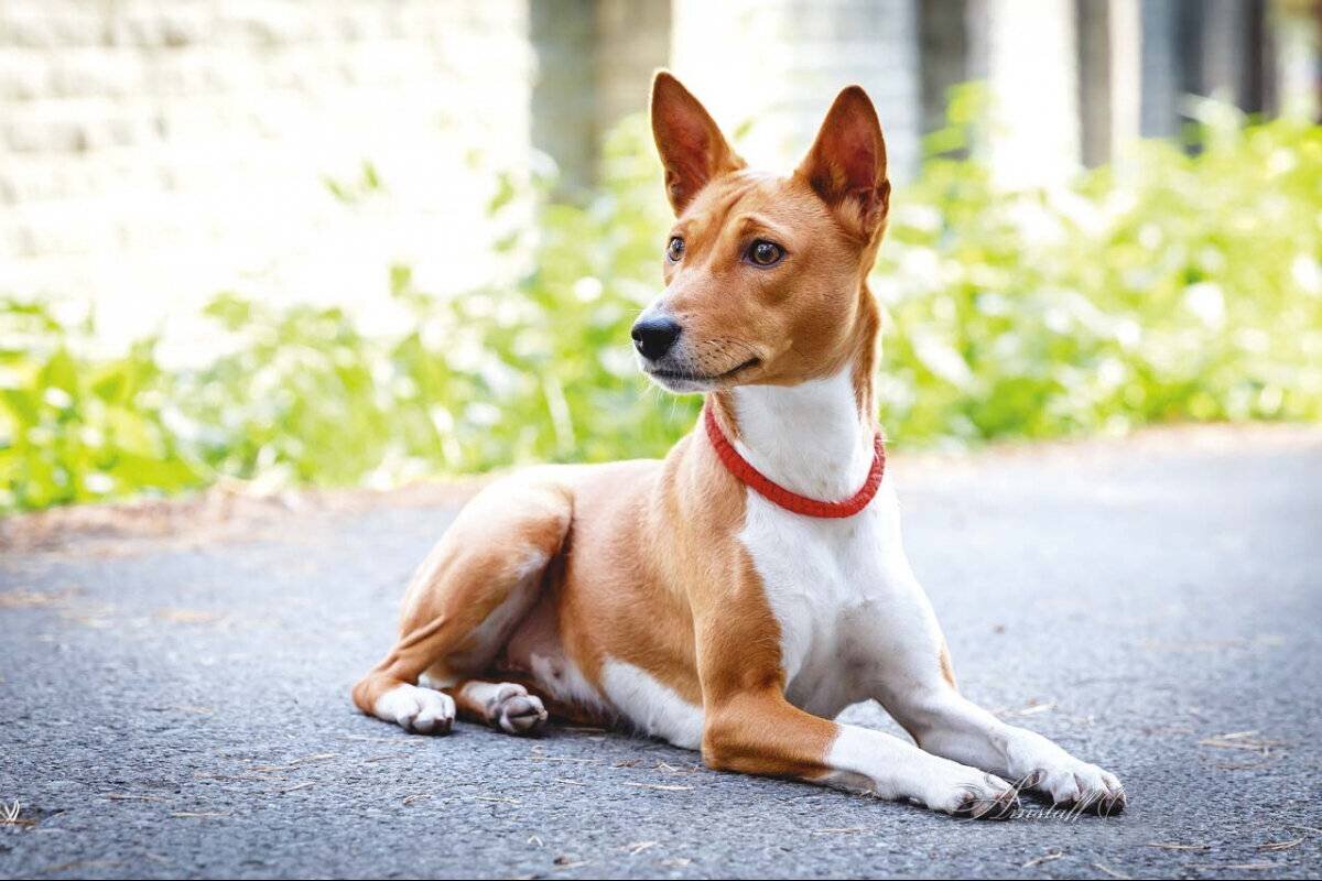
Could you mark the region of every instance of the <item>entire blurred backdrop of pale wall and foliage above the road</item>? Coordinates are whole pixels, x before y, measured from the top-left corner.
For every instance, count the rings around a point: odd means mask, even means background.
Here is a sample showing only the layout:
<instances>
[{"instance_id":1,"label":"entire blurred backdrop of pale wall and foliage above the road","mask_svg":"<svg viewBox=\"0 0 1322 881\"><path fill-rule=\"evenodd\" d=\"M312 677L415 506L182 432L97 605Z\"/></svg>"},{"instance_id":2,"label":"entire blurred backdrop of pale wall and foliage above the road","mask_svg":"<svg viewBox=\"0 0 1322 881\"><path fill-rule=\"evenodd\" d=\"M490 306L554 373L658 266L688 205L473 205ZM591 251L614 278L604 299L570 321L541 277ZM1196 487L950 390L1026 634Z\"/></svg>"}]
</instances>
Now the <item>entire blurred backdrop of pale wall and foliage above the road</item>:
<instances>
[{"instance_id":1,"label":"entire blurred backdrop of pale wall and foliage above the road","mask_svg":"<svg viewBox=\"0 0 1322 881\"><path fill-rule=\"evenodd\" d=\"M899 446L1322 416L1313 0L0 0L0 511L661 454L673 69L858 82Z\"/></svg>"}]
</instances>

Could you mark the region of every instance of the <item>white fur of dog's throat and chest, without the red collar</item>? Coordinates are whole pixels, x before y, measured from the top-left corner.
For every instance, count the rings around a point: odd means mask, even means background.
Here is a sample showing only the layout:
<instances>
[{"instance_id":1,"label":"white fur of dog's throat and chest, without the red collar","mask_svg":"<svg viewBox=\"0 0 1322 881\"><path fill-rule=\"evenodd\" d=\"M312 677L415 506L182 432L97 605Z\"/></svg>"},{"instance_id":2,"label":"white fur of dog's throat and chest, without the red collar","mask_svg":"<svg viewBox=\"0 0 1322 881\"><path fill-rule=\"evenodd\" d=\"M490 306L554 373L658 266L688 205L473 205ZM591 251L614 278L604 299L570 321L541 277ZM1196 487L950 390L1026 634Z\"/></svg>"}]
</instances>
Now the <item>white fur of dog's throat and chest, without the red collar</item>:
<instances>
[{"instance_id":1,"label":"white fur of dog's throat and chest, without the red collar","mask_svg":"<svg viewBox=\"0 0 1322 881\"><path fill-rule=\"evenodd\" d=\"M800 495L850 497L875 454L850 376L736 388L735 446ZM744 498L739 539L780 623L787 696L820 716L875 696L891 660L935 627L900 544L891 478L866 509L839 519L792 514L751 490Z\"/></svg>"}]
</instances>

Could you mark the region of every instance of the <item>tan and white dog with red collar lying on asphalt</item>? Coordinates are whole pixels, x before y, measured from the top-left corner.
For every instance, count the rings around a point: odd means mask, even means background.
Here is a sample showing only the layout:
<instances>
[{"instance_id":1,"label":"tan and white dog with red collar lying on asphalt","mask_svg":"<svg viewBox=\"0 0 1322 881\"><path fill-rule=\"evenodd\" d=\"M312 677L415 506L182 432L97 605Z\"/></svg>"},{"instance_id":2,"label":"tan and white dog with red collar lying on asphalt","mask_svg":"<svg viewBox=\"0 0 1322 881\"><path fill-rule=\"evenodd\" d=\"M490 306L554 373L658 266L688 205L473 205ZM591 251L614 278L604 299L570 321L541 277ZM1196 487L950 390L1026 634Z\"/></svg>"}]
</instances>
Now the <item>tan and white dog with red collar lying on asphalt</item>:
<instances>
[{"instance_id":1,"label":"tan and white dog with red collar lying on asphalt","mask_svg":"<svg viewBox=\"0 0 1322 881\"><path fill-rule=\"evenodd\" d=\"M705 395L698 425L661 461L484 489L357 707L422 734L623 724L713 769L961 816L1009 816L1019 790L1122 808L1113 774L960 695L904 555L874 421L891 188L867 94L839 92L789 176L750 170L666 71L650 112L676 222L632 337L652 380ZM863 700L916 745L833 721Z\"/></svg>"}]
</instances>

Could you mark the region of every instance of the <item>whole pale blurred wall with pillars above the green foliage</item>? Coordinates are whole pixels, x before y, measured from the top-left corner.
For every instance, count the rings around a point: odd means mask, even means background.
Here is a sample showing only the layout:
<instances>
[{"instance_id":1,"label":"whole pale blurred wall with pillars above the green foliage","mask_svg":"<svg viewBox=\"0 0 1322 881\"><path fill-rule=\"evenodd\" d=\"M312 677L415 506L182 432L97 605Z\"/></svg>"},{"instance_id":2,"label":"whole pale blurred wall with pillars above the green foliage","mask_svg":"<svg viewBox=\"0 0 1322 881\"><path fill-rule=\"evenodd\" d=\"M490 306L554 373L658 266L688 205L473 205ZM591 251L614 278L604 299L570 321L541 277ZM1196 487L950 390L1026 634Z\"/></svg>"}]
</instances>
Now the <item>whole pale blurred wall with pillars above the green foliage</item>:
<instances>
[{"instance_id":1,"label":"whole pale blurred wall with pillars above the green foliage","mask_svg":"<svg viewBox=\"0 0 1322 881\"><path fill-rule=\"evenodd\" d=\"M1276 102L1315 112L1315 15L1265 3L0 0L0 295L94 299L123 335L223 289L383 318L391 263L435 291L488 277L496 173L535 151L590 185L666 63L780 169L863 85L900 184L945 88L981 77L997 176L1062 181L1140 111L1171 133L1186 90L1256 106L1235 90L1269 94L1248 74L1274 62L1245 40L1280 46Z\"/></svg>"}]
</instances>

